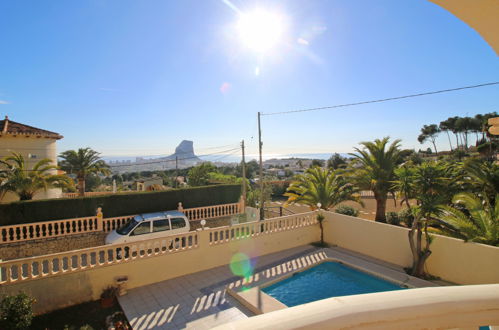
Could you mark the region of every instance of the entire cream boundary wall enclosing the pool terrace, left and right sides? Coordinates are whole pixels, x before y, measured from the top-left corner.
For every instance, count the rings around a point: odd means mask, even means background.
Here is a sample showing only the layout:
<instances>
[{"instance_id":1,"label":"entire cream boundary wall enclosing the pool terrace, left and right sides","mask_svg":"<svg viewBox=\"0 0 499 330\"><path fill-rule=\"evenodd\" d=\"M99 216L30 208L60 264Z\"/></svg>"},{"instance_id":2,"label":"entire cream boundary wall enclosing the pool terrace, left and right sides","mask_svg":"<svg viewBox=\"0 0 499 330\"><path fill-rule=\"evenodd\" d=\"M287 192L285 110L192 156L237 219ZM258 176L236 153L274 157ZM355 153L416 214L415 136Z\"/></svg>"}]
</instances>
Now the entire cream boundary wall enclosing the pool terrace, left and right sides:
<instances>
[{"instance_id":1,"label":"entire cream boundary wall enclosing the pool terrace, left and right sides","mask_svg":"<svg viewBox=\"0 0 499 330\"><path fill-rule=\"evenodd\" d=\"M324 212L324 215L324 237L327 243L399 266L411 265L406 228L333 212ZM265 224L269 226L253 222L198 231L198 243L193 247L159 254L146 253L145 256L121 262L106 257L106 260L96 265L81 264L83 258L88 260L92 253L105 251L109 246L3 262L0 263L0 269L3 269L3 276L7 277L2 280L0 276L0 295L26 291L39 301L37 312L98 299L102 290L112 285L117 277L127 276L128 288L137 288L227 265L237 252L256 258L318 241L320 231L313 222L315 216L316 212L308 212L266 220ZM234 228L245 230L247 234L230 238L226 234L220 236ZM183 234L189 235L194 234ZM153 241L151 244L157 243ZM465 243L436 235L431 249L433 253L427 264L430 274L457 284L499 283L498 247ZM40 267L46 261L57 259L62 262L65 258L73 257L79 261L72 263L67 270L52 272L49 267L48 273L32 275L35 264ZM8 274L11 267L24 267L27 277L11 279Z\"/></svg>"}]
</instances>

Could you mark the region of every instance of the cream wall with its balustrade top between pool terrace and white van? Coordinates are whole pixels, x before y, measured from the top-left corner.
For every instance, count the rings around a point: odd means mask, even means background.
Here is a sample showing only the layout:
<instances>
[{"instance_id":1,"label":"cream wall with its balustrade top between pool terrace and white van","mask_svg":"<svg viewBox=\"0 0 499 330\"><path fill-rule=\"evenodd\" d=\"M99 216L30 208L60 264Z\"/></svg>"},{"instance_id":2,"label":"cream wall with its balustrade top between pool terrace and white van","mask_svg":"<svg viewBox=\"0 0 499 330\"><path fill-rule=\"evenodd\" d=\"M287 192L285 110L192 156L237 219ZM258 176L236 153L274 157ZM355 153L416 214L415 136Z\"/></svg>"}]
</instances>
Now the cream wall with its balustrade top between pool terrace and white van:
<instances>
[{"instance_id":1,"label":"cream wall with its balustrade top between pool terrace and white van","mask_svg":"<svg viewBox=\"0 0 499 330\"><path fill-rule=\"evenodd\" d=\"M127 277L132 289L229 264L236 253L257 258L318 239L315 213L308 212L168 239L5 261L0 262L0 296L24 291L36 298L35 311L43 313L98 299L117 278Z\"/></svg>"}]
</instances>

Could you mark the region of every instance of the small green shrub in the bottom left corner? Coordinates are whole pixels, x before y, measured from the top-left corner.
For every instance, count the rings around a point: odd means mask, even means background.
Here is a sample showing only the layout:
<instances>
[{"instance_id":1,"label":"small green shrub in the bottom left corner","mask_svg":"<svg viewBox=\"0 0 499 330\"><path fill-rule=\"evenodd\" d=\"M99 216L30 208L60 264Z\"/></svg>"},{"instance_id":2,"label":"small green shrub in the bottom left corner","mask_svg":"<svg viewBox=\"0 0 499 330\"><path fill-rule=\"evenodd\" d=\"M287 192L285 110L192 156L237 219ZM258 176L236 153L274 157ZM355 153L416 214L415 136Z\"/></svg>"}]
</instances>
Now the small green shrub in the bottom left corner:
<instances>
[{"instance_id":1,"label":"small green shrub in the bottom left corner","mask_svg":"<svg viewBox=\"0 0 499 330\"><path fill-rule=\"evenodd\" d=\"M21 292L5 296L0 302L0 329L29 329L33 320L35 299Z\"/></svg>"}]
</instances>

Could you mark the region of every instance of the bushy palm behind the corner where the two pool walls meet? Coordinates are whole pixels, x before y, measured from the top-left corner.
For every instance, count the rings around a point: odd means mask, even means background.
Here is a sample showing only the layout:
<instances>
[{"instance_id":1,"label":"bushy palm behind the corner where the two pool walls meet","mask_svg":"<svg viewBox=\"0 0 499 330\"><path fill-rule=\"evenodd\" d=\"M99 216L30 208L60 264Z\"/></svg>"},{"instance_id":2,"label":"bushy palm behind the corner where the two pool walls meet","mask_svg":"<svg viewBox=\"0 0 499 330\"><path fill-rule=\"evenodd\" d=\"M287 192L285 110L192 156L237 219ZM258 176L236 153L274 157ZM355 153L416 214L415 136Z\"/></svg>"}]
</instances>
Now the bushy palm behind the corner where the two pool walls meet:
<instances>
[{"instance_id":1,"label":"bushy palm behind the corner where the two pool walls meet","mask_svg":"<svg viewBox=\"0 0 499 330\"><path fill-rule=\"evenodd\" d=\"M335 207L341 202L355 201L363 205L358 190L348 183L337 171L322 167L309 168L304 174L297 175L289 185L284 196L288 197L286 204L302 203L315 210ZM321 244L324 245L324 216L319 213L317 221L321 229Z\"/></svg>"}]
</instances>

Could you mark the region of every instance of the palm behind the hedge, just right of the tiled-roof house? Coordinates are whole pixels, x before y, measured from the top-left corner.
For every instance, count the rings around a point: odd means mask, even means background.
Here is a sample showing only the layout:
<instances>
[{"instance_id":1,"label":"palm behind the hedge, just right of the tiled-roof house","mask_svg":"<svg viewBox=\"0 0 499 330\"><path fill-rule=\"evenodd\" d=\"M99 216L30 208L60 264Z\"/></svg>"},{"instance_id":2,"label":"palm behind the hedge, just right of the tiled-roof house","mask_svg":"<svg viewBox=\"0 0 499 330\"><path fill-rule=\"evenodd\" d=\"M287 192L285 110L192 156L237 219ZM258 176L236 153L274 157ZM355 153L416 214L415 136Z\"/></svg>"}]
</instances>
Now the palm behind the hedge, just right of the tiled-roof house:
<instances>
[{"instance_id":1,"label":"palm behind the hedge, just right of the tiled-roof house","mask_svg":"<svg viewBox=\"0 0 499 330\"><path fill-rule=\"evenodd\" d=\"M100 158L100 153L90 148L80 148L78 151L67 150L59 155L62 158L60 167L70 174L76 174L78 192L85 195L85 179L91 173L108 175L109 166Z\"/></svg>"}]
</instances>

